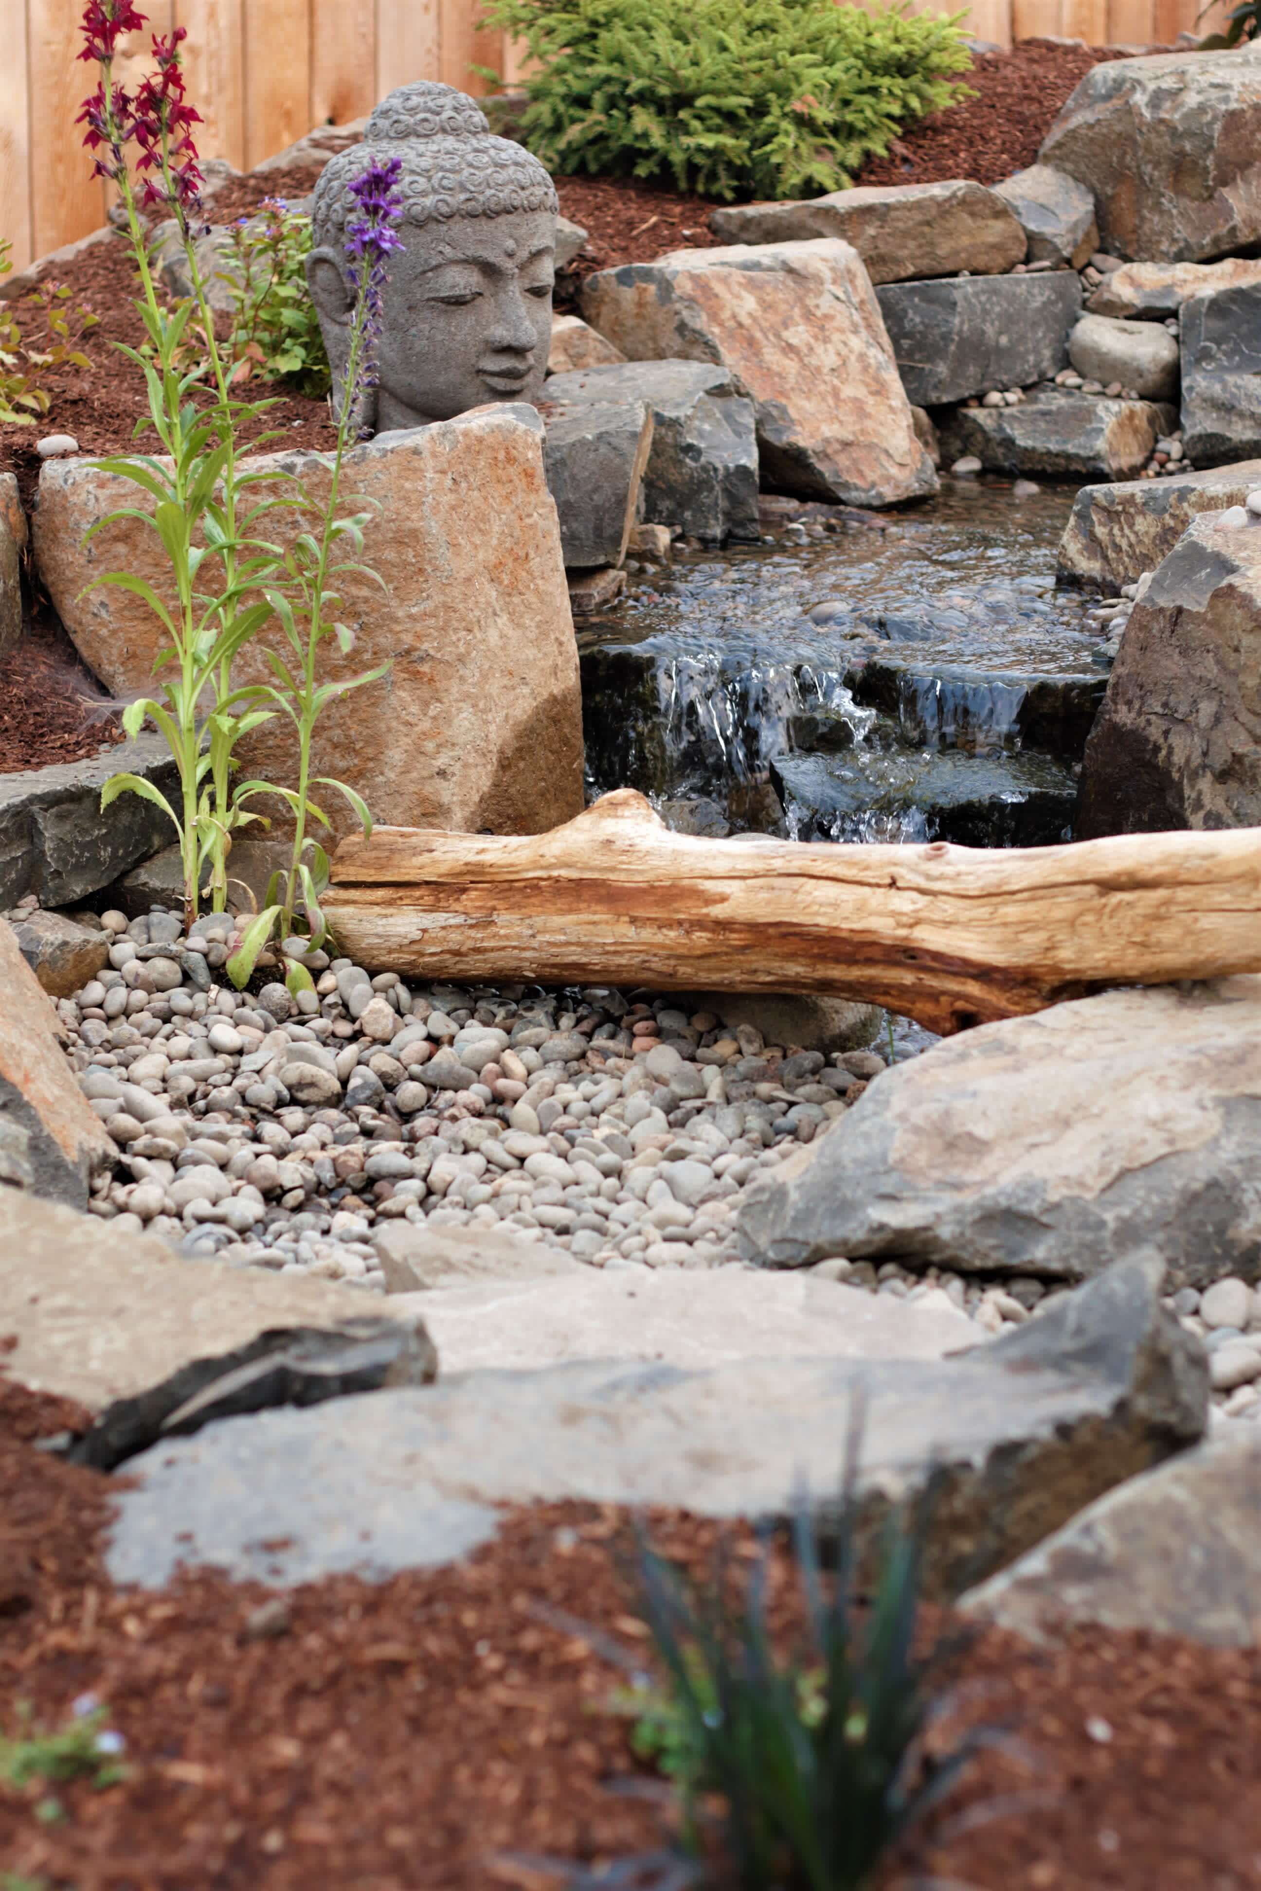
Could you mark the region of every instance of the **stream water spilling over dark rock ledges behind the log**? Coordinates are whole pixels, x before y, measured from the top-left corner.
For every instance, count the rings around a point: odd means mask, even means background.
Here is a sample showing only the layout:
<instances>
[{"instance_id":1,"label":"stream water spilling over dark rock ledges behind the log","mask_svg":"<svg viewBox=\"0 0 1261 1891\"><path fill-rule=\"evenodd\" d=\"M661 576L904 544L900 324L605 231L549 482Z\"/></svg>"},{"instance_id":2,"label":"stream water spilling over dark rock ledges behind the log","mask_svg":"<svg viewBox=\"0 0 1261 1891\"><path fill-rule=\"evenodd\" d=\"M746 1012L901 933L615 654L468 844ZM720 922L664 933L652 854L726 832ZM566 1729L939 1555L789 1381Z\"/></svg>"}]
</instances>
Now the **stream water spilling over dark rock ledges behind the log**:
<instances>
[{"instance_id":1,"label":"stream water spilling over dark rock ledges behind the log","mask_svg":"<svg viewBox=\"0 0 1261 1891\"><path fill-rule=\"evenodd\" d=\"M1098 599L1055 588L1072 497L947 478L911 511L785 505L758 545L631 560L579 628L590 792L715 836L1068 838L1110 668Z\"/></svg>"}]
</instances>

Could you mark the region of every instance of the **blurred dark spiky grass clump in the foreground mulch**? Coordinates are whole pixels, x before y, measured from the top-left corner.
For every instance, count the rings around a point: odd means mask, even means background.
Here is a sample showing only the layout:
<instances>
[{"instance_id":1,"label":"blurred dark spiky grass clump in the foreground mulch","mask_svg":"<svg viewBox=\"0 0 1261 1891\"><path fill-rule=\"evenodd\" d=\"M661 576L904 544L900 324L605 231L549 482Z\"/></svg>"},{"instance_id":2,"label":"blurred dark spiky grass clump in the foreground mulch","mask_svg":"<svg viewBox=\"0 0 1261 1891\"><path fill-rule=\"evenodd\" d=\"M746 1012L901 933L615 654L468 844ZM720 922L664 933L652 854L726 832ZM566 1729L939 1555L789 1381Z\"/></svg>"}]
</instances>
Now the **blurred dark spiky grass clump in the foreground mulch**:
<instances>
[{"instance_id":1,"label":"blurred dark spiky grass clump in the foreground mulch","mask_svg":"<svg viewBox=\"0 0 1261 1891\"><path fill-rule=\"evenodd\" d=\"M890 1517L864 1609L853 1600L853 1477L830 1594L815 1526L798 1511L805 1639L786 1658L771 1647L766 1547L739 1594L726 1556L700 1583L641 1543L639 1605L665 1687L622 1692L616 1708L637 1713L633 1744L675 1779L692 1838L701 1795L720 1795L743 1891L860 1891L989 1738L974 1732L945 1759L924 1753L934 1658L913 1641L928 1503Z\"/></svg>"}]
</instances>

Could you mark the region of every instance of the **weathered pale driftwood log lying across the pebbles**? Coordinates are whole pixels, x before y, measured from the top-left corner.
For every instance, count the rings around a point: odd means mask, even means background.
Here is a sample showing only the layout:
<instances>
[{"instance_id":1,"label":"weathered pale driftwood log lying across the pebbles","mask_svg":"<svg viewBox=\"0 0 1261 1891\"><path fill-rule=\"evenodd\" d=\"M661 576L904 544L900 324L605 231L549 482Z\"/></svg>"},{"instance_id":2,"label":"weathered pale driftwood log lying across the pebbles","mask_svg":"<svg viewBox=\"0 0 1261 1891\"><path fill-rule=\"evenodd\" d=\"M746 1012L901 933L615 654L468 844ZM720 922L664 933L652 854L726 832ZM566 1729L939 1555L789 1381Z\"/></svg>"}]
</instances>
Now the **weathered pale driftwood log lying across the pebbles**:
<instances>
[{"instance_id":1,"label":"weathered pale driftwood log lying across the pebbles","mask_svg":"<svg viewBox=\"0 0 1261 1891\"><path fill-rule=\"evenodd\" d=\"M953 1032L1102 985L1261 972L1261 828L996 851L696 840L622 789L550 834L344 840L323 904L369 970L817 991Z\"/></svg>"}]
</instances>

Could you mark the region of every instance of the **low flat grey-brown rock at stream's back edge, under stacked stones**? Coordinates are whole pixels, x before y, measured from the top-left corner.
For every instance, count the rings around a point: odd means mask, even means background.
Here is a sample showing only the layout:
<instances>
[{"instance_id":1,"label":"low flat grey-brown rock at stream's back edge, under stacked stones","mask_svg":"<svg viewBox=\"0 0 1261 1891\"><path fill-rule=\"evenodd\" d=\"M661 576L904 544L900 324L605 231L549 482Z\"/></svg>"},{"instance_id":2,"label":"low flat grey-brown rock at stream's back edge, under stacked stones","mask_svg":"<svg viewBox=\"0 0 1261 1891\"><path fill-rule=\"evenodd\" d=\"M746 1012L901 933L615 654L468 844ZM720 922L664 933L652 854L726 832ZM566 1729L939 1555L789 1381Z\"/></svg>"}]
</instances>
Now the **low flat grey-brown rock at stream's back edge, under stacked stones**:
<instances>
[{"instance_id":1,"label":"low flat grey-brown rock at stream's back edge, under stacked stones","mask_svg":"<svg viewBox=\"0 0 1261 1891\"><path fill-rule=\"evenodd\" d=\"M945 444L951 456L976 454L993 473L1115 480L1140 473L1174 422L1163 403L1038 388L1019 407L960 407Z\"/></svg>"}]
</instances>

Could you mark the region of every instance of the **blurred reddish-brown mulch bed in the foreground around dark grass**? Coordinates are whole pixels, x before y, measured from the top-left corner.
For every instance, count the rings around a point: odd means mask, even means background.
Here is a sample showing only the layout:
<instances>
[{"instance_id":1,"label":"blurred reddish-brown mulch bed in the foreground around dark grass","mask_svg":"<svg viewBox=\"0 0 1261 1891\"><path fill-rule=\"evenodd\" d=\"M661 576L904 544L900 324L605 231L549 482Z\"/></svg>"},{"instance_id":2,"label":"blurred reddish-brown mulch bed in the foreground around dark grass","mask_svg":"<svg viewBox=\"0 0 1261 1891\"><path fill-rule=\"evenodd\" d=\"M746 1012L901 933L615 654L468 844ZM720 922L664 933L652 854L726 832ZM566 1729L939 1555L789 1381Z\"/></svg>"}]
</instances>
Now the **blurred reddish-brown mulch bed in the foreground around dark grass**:
<instances>
[{"instance_id":1,"label":"blurred reddish-brown mulch bed in the foreground around dark grass","mask_svg":"<svg viewBox=\"0 0 1261 1891\"><path fill-rule=\"evenodd\" d=\"M47 1787L0 1787L0 1866L47 1891L561 1891L669 1844L669 1798L603 1711L647 1651L622 1513L510 1511L461 1566L337 1577L280 1605L212 1571L119 1592L98 1560L112 1486L30 1449L74 1422L0 1380L0 1730L19 1702L64 1726L91 1692L129 1776L55 1787L57 1823L34 1813ZM665 1515L654 1534L707 1568L713 1524ZM781 1632L792 1596L779 1556ZM1002 1725L1006 1745L881 1891L924 1874L976 1891L1261 1883L1261 1649L1095 1632L1038 1651L987 1632L951 1681L945 1734Z\"/></svg>"}]
</instances>

